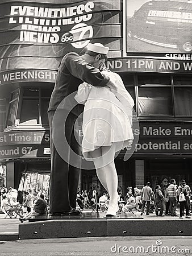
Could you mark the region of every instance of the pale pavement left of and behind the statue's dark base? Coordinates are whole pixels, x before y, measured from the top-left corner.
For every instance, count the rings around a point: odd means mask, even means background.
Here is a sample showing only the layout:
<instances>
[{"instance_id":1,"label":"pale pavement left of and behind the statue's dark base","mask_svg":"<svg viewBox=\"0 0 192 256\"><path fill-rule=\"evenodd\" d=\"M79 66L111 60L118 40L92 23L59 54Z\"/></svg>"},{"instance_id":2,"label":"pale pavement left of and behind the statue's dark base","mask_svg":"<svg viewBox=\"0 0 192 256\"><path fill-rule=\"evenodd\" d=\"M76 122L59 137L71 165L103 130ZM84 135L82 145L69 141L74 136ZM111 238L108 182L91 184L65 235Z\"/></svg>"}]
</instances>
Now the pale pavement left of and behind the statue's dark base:
<instances>
[{"instance_id":1,"label":"pale pavement left of and behind the statue's dark base","mask_svg":"<svg viewBox=\"0 0 192 256\"><path fill-rule=\"evenodd\" d=\"M91 212L91 209L85 209L84 212ZM136 216L140 216L140 212L134 212ZM177 211L178 217L172 217L172 216L165 216L158 217L155 215L155 213L150 213L148 216L145 214L142 216L143 221L145 220L181 220L179 217L179 212ZM5 218L6 214L0 214L0 241L8 241L8 240L18 240L19 235L19 217L17 218ZM186 220L185 217L183 220ZM191 218L187 221L191 221Z\"/></svg>"}]
</instances>

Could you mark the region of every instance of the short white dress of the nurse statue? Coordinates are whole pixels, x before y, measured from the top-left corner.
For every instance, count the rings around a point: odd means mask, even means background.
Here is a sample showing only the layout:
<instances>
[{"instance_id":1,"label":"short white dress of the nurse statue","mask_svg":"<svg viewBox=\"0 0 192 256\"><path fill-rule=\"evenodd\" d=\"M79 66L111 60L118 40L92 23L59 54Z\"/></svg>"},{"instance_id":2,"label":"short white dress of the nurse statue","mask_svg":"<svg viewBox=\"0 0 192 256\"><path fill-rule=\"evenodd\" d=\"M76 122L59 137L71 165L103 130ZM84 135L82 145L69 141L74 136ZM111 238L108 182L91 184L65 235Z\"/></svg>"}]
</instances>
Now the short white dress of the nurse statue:
<instances>
[{"instance_id":1,"label":"short white dress of the nurse statue","mask_svg":"<svg viewBox=\"0 0 192 256\"><path fill-rule=\"evenodd\" d=\"M84 82L75 96L79 104L85 104L82 123L82 154L92 160L90 152L101 146L116 144L116 150L132 144L133 98L127 92L121 77L103 71L116 85L111 88L92 86Z\"/></svg>"}]
</instances>

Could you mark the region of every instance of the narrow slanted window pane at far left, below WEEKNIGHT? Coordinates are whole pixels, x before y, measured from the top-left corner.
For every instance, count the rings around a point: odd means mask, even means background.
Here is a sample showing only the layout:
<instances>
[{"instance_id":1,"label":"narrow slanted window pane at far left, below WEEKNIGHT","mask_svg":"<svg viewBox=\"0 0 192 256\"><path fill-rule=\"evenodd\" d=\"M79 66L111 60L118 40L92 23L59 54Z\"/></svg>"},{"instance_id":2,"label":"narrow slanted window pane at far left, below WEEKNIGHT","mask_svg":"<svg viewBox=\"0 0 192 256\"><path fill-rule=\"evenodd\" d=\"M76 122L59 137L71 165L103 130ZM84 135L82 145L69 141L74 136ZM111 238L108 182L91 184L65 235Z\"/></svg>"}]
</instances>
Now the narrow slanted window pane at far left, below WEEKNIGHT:
<instances>
[{"instance_id":1,"label":"narrow slanted window pane at far left, below WEEKNIGHT","mask_svg":"<svg viewBox=\"0 0 192 256\"><path fill-rule=\"evenodd\" d=\"M18 104L18 96L19 89L15 90L11 94L10 102L9 102L9 110L7 115L6 127L10 127L15 125L15 117L16 117L16 108Z\"/></svg>"}]
</instances>

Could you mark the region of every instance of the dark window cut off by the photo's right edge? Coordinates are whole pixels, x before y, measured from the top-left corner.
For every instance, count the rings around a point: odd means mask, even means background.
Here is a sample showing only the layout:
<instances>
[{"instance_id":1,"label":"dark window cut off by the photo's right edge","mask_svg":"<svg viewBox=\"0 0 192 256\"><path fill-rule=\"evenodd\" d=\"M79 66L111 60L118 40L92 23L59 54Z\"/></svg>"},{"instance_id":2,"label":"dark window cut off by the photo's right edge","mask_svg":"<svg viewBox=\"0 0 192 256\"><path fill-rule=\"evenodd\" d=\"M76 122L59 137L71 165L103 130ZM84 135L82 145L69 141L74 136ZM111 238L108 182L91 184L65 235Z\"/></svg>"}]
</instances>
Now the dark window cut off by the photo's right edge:
<instances>
[{"instance_id":1,"label":"dark window cut off by the photo's right edge","mask_svg":"<svg viewBox=\"0 0 192 256\"><path fill-rule=\"evenodd\" d=\"M192 88L175 87L174 97L176 115L192 115Z\"/></svg>"}]
</instances>

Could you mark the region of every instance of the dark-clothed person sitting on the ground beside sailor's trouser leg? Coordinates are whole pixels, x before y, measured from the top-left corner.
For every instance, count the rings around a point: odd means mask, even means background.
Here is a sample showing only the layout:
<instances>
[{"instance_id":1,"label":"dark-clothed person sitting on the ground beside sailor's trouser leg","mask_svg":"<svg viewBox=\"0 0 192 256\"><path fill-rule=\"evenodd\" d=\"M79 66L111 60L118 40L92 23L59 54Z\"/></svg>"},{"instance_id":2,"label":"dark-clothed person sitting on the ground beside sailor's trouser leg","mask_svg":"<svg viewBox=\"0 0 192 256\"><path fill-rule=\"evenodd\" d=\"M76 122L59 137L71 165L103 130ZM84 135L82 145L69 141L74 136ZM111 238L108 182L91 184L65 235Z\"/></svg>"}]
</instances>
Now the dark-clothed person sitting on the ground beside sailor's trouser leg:
<instances>
[{"instance_id":1,"label":"dark-clothed person sitting on the ground beside sailor's trouser leg","mask_svg":"<svg viewBox=\"0 0 192 256\"><path fill-rule=\"evenodd\" d=\"M40 199L38 199L35 203L34 210L28 213L26 217L19 218L20 222L29 220L32 216L41 216L47 214L47 202L44 200L45 195L43 193L40 194Z\"/></svg>"}]
</instances>

